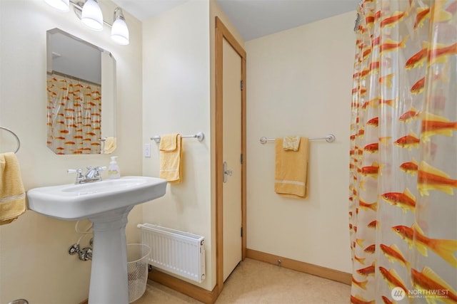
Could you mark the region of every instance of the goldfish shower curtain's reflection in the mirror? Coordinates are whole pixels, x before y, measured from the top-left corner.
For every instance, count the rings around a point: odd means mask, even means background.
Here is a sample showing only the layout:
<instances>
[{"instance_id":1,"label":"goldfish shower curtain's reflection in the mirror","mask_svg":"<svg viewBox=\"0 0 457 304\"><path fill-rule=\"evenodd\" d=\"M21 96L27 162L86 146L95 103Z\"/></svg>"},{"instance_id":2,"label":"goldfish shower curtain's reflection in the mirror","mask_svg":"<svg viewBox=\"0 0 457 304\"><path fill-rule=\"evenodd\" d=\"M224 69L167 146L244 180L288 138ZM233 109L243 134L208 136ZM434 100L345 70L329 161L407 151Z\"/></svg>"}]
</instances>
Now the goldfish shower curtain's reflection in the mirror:
<instances>
[{"instance_id":1,"label":"goldfish shower curtain's reflection in the mirror","mask_svg":"<svg viewBox=\"0 0 457 304\"><path fill-rule=\"evenodd\" d=\"M101 86L52 74L47 95L49 149L56 154L99 154Z\"/></svg>"}]
</instances>

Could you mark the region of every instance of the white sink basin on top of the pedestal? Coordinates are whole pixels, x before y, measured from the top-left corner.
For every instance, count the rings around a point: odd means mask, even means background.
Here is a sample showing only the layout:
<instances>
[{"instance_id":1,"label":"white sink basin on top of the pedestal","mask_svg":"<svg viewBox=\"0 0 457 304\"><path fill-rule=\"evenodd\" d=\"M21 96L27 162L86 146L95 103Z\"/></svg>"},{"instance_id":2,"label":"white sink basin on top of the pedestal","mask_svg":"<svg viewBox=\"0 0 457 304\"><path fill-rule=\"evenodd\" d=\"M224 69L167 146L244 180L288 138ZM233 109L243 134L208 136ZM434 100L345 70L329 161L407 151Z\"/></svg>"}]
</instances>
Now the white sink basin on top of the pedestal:
<instances>
[{"instance_id":1,"label":"white sink basin on top of the pedestal","mask_svg":"<svg viewBox=\"0 0 457 304\"><path fill-rule=\"evenodd\" d=\"M63 184L27 192L29 209L57 219L88 219L106 211L164 196L166 180L121 177L90 184Z\"/></svg>"}]
</instances>

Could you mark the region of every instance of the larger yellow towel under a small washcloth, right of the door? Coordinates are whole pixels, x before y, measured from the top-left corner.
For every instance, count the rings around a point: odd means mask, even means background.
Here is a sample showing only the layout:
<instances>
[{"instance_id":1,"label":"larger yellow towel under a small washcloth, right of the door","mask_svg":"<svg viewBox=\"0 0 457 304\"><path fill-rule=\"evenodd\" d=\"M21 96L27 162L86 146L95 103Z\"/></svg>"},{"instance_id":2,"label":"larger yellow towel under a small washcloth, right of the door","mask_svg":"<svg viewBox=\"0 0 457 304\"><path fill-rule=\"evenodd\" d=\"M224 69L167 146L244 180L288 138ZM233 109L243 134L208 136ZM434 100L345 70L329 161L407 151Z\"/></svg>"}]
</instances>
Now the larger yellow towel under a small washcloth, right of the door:
<instances>
[{"instance_id":1,"label":"larger yellow towel under a small washcloth, right of the door","mask_svg":"<svg viewBox=\"0 0 457 304\"><path fill-rule=\"evenodd\" d=\"M298 151L283 150L283 139L276 138L276 173L274 191L282 196L306 198L308 137L301 137Z\"/></svg>"}]
</instances>

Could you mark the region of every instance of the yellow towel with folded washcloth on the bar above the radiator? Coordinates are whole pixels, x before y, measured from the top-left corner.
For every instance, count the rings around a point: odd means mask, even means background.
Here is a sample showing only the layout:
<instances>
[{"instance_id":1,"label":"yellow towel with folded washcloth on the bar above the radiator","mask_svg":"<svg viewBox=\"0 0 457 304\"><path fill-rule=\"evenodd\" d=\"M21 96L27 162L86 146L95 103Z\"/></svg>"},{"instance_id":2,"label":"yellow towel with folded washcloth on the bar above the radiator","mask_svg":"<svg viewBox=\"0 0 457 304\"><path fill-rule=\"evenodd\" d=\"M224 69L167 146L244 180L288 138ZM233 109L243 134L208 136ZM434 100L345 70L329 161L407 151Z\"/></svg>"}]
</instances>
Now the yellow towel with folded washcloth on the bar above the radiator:
<instances>
[{"instance_id":1,"label":"yellow towel with folded washcloth on the bar above the radiator","mask_svg":"<svg viewBox=\"0 0 457 304\"><path fill-rule=\"evenodd\" d=\"M159 177L170 183L182 181L182 147L181 135L163 135L160 139L160 173Z\"/></svg>"}]
</instances>

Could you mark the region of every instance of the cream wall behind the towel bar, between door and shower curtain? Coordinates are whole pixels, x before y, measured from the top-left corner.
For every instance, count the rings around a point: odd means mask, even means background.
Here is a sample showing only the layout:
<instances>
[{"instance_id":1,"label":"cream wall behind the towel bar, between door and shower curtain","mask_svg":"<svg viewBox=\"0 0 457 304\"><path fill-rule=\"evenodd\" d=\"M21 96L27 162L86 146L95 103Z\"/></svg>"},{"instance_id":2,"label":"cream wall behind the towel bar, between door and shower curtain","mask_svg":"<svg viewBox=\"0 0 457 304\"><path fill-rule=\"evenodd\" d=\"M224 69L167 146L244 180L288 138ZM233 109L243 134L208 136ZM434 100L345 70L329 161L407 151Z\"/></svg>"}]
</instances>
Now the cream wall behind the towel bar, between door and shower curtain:
<instances>
[{"instance_id":1,"label":"cream wall behind the towel bar, between door and shower curtain","mask_svg":"<svg viewBox=\"0 0 457 304\"><path fill-rule=\"evenodd\" d=\"M247 60L247 247L351 272L348 150L355 12L245 43ZM311 141L308 198L274 192L274 143Z\"/></svg>"}]
</instances>

